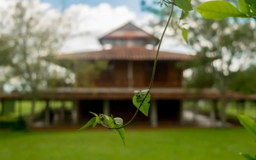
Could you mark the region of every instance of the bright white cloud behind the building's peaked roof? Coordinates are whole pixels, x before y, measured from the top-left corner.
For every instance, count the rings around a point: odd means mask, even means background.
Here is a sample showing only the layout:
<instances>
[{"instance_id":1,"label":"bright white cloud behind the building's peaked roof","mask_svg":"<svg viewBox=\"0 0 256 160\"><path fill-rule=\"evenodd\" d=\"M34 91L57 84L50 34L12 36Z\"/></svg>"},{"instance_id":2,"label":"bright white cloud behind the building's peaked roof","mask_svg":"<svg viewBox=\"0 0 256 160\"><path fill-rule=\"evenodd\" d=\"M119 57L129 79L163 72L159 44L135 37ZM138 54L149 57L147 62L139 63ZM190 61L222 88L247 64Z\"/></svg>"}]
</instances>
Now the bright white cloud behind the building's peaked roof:
<instances>
[{"instance_id":1,"label":"bright white cloud behind the building's peaked roof","mask_svg":"<svg viewBox=\"0 0 256 160\"><path fill-rule=\"evenodd\" d=\"M163 30L163 28L151 28L149 22L158 21L158 17L153 14L145 14L138 18L136 14L126 6L112 7L110 4L102 3L96 7L90 7L86 4L74 4L68 8L65 13L72 20L72 38L69 38L61 49L61 52L82 52L87 50L101 50L102 47L98 38L108 32L132 21L134 24L148 33L154 30ZM84 34L86 33L86 34ZM172 31L167 30L167 34ZM174 38L165 38L162 49L170 52L187 53L190 49L177 45Z\"/></svg>"}]
</instances>

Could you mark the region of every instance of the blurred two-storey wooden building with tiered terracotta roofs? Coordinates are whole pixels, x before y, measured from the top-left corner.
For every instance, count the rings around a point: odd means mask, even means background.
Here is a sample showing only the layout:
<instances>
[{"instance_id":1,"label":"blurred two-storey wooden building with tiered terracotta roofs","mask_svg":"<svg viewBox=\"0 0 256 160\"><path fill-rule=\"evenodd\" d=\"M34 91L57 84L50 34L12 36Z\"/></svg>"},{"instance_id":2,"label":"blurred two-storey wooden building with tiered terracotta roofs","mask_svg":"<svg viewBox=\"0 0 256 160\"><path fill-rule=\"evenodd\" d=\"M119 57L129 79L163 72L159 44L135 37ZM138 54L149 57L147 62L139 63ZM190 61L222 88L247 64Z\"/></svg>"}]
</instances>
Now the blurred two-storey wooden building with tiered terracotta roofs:
<instances>
[{"instance_id":1,"label":"blurred two-storey wooden building with tiered terracotta roofs","mask_svg":"<svg viewBox=\"0 0 256 160\"><path fill-rule=\"evenodd\" d=\"M101 51L61 54L56 57L62 66L70 64L76 67L77 62L82 64L99 60L107 61L108 65L100 72L91 87L84 85L84 75L77 74L76 87L58 83L58 88L44 92L41 99L47 102L74 102L70 112L66 112L64 106L52 112L49 110L51 106L47 103L44 116L46 126L54 123L54 119L57 125L85 124L93 117L89 111L112 114L114 117L123 118L126 123L136 112L137 108L132 103L134 90L148 89L156 56L154 48L158 45L159 39L128 23L99 38L99 42L104 48ZM217 90L206 89L199 93L183 88L183 69L178 68L177 63L187 60L192 60L192 56L171 52L159 53L154 84L150 91L148 117L139 112L132 125L157 127L181 124L183 100L208 99L216 102L220 98ZM236 94L228 96L240 98L240 95ZM29 96L10 94L2 95L0 98L7 101L15 98L29 99ZM214 104L216 108L216 103ZM212 114L214 115L214 110Z\"/></svg>"}]
</instances>

